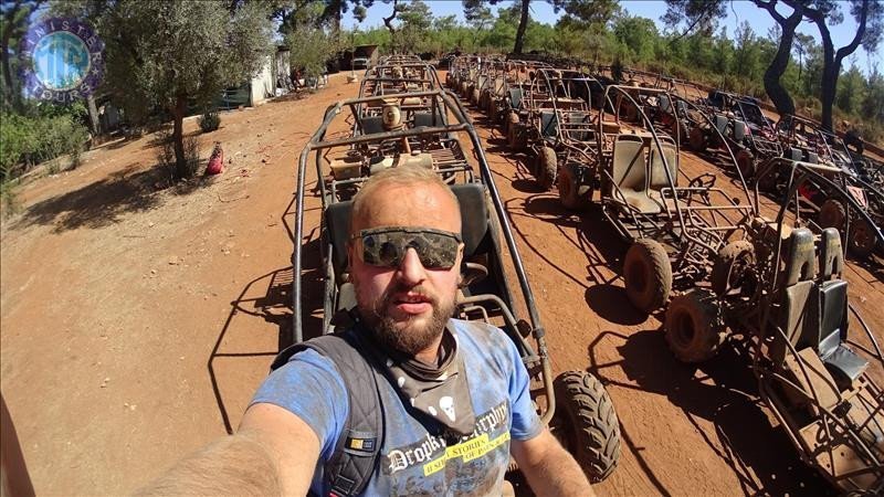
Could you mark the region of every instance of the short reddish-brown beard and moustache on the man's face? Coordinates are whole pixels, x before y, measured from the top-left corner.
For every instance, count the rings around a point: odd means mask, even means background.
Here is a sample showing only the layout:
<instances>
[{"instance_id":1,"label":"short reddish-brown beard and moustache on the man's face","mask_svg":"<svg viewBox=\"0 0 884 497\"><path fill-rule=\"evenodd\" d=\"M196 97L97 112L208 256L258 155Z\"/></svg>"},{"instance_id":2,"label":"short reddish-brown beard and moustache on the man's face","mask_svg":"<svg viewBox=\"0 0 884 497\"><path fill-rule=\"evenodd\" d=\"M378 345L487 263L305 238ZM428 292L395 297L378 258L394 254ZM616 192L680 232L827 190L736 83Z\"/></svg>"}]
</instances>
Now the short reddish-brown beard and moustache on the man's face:
<instances>
[{"instance_id":1,"label":"short reddish-brown beard and moustache on the man's face","mask_svg":"<svg viewBox=\"0 0 884 497\"><path fill-rule=\"evenodd\" d=\"M359 284L358 282L354 282L354 284L356 294L359 295ZM397 321L389 315L388 310L394 302L393 296L406 292L418 293L430 299L433 313L422 325L417 321L425 319L423 316L412 316L406 321ZM427 294L421 286L404 287L393 284L373 303L364 305L360 302L358 304L359 314L375 340L385 348L391 348L412 357L425 350L442 336L445 325L454 314L453 298L441 303L439 297Z\"/></svg>"}]
</instances>

